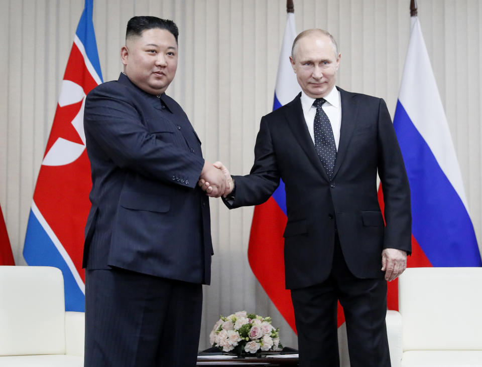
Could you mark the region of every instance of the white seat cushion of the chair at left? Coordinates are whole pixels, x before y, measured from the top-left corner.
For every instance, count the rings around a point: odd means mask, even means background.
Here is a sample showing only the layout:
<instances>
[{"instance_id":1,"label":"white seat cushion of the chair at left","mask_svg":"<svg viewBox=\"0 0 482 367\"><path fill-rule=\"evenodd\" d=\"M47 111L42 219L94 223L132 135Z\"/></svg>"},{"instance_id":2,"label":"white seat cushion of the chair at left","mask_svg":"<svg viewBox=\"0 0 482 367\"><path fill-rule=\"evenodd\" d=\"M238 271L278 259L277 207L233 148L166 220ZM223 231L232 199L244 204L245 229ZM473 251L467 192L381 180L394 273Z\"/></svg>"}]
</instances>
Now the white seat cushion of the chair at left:
<instances>
[{"instance_id":1,"label":"white seat cushion of the chair at left","mask_svg":"<svg viewBox=\"0 0 482 367\"><path fill-rule=\"evenodd\" d=\"M84 358L71 355L22 355L0 357L0 367L83 367Z\"/></svg>"}]
</instances>

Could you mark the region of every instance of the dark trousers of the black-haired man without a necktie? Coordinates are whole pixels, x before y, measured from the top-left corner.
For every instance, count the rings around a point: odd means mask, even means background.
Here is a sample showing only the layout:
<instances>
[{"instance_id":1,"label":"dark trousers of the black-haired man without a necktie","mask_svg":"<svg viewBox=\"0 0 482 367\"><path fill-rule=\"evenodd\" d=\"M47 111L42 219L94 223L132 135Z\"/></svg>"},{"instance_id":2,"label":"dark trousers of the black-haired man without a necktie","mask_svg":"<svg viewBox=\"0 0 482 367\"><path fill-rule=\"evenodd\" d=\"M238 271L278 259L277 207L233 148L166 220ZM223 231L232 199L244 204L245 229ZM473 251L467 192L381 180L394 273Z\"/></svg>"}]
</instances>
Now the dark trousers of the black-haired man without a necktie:
<instances>
[{"instance_id":1,"label":"dark trousers of the black-haired man without a necktie","mask_svg":"<svg viewBox=\"0 0 482 367\"><path fill-rule=\"evenodd\" d=\"M201 284L86 270L84 366L195 366L201 311Z\"/></svg>"}]
</instances>

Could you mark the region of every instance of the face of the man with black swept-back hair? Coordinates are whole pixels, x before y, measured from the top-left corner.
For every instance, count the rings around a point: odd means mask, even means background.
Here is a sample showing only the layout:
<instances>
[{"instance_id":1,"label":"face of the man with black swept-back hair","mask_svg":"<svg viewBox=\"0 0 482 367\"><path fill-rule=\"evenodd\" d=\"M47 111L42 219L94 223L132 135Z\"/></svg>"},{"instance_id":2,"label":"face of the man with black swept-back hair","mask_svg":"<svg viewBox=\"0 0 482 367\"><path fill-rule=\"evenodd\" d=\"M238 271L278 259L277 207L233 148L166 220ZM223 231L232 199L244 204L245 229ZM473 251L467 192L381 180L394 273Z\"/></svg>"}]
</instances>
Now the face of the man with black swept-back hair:
<instances>
[{"instance_id":1,"label":"face of the man with black swept-back hair","mask_svg":"<svg viewBox=\"0 0 482 367\"><path fill-rule=\"evenodd\" d=\"M174 35L160 28L129 37L121 49L124 73L143 91L159 95L171 84L177 69Z\"/></svg>"}]
</instances>

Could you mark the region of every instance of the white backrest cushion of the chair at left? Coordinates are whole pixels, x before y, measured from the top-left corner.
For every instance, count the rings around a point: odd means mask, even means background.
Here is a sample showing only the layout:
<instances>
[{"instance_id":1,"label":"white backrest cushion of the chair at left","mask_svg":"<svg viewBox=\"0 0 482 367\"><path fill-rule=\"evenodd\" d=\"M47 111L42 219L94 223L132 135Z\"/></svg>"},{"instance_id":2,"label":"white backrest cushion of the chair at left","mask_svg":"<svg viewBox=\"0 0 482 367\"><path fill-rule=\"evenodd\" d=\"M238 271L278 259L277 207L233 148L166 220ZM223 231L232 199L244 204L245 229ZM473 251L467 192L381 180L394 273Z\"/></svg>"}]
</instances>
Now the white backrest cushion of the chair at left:
<instances>
[{"instance_id":1,"label":"white backrest cushion of the chair at left","mask_svg":"<svg viewBox=\"0 0 482 367\"><path fill-rule=\"evenodd\" d=\"M0 266L0 355L65 354L62 272Z\"/></svg>"}]
</instances>

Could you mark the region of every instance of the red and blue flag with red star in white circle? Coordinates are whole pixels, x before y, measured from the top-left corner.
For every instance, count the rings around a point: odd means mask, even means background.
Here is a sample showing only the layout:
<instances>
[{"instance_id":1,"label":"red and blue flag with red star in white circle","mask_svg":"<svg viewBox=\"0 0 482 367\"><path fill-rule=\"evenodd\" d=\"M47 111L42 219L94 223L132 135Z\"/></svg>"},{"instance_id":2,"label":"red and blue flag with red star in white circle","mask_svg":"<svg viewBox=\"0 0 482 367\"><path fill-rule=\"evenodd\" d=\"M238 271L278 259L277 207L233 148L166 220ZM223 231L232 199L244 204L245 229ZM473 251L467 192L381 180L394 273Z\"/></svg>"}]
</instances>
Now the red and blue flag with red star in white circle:
<instances>
[{"instance_id":1,"label":"red and blue flag with red star in white circle","mask_svg":"<svg viewBox=\"0 0 482 367\"><path fill-rule=\"evenodd\" d=\"M28 265L62 271L67 311L84 311L85 303L82 250L92 182L83 111L87 93L102 83L92 8L93 0L85 0L37 178L23 251Z\"/></svg>"}]
</instances>

